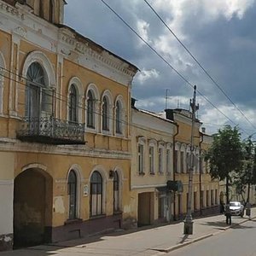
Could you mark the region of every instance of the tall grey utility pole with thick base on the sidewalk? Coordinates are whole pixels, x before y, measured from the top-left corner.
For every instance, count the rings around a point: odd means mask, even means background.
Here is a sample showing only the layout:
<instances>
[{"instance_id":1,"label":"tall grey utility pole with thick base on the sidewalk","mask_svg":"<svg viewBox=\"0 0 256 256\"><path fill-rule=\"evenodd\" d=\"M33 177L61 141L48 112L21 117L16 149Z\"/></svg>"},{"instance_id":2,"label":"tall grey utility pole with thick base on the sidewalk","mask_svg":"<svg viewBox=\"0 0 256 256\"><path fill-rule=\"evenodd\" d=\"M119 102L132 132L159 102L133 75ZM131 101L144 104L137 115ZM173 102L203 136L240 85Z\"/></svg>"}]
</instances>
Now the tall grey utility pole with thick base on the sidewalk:
<instances>
[{"instance_id":1,"label":"tall grey utility pole with thick base on the sidewalk","mask_svg":"<svg viewBox=\"0 0 256 256\"><path fill-rule=\"evenodd\" d=\"M192 126L191 126L191 141L190 141L190 166L189 166L189 195L188 195L188 209L184 219L184 235L193 234L193 220L191 214L191 203L192 203L192 184L193 184L193 171L194 171L194 130L195 130L195 112L199 106L195 105L196 98L196 85L194 86L193 100L190 99L190 107L192 108Z\"/></svg>"}]
</instances>

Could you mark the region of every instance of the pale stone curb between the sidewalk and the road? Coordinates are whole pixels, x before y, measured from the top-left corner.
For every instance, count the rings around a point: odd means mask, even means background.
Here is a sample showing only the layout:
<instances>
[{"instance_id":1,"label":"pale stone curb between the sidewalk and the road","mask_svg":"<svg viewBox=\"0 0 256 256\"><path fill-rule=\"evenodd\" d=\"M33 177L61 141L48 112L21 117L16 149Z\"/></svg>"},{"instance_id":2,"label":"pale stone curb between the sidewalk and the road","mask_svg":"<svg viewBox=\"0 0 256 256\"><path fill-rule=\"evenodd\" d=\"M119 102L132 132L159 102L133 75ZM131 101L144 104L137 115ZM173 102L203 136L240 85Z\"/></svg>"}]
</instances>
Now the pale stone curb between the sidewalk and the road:
<instances>
[{"instance_id":1,"label":"pale stone curb between the sidewalk and the road","mask_svg":"<svg viewBox=\"0 0 256 256\"><path fill-rule=\"evenodd\" d=\"M249 220L252 220L252 219L254 219L254 218L256 218L256 217L253 217L253 218L251 218L251 219L249 219L249 218L244 219L244 220L242 220L240 223L236 223L236 224L230 225L230 226L228 226L228 227L224 227L224 228L221 229L220 231L230 230L230 229L232 228L232 226L236 226L236 225L239 225L239 224L243 224L243 223L245 223L245 222L247 222L247 221L249 221ZM189 244L192 244L192 243L194 243L194 242L196 242L196 241L201 241L201 240L203 240L203 239L207 239L208 237L211 237L211 236L214 236L214 235L218 235L218 234L220 233L220 231L216 231L216 232L207 234L206 236L200 236L200 237L195 238L195 239L193 239L193 240L191 240L191 241L186 241L186 242L183 242L183 243L181 243L181 244L177 244L177 245L175 245L175 246L172 246L172 247L169 247L169 248L166 248L166 249L155 249L155 250L156 250L156 251L159 251L159 252L162 252L162 253L170 253L170 252L172 252L172 251L174 251L174 250L177 250L177 249L179 249L179 248L181 248L181 247L188 246Z\"/></svg>"}]
</instances>

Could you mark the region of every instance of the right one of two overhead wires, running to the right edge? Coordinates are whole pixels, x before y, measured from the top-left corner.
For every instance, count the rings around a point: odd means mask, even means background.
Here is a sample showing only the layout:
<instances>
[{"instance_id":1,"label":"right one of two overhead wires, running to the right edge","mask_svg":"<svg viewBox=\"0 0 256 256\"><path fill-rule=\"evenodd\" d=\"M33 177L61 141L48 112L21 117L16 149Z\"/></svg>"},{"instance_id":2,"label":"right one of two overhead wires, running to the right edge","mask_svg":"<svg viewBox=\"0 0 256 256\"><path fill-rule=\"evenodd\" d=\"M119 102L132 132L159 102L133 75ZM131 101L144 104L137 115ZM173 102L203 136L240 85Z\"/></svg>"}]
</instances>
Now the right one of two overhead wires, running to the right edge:
<instances>
[{"instance_id":1,"label":"right one of two overhead wires, running to the right edge","mask_svg":"<svg viewBox=\"0 0 256 256\"><path fill-rule=\"evenodd\" d=\"M189 55L191 56L191 58L197 63L197 65L198 65L199 67L201 67L201 69L203 70L204 73L207 74L207 77L208 77L209 79L211 79L212 83L218 87L218 90L220 90L220 91L224 94L224 96L226 96L226 98L234 105L234 107L241 113L241 115L242 115L245 119L247 119L247 116L245 115L245 113L243 113L243 112L241 111L241 109L236 106L235 102L233 102L233 101L231 100L230 96L228 96L228 95L225 93L225 91L221 88L221 86L212 78L212 75L207 72L207 70L201 65L201 63L200 63L199 61L197 61L197 59L195 58L195 56L194 56L194 55L190 52L190 50L183 44L183 42L182 42L179 38L177 38L177 35L172 31L172 29L170 28L170 26L168 26L168 25L166 24L165 20L163 20L163 19L160 17L160 15L154 10L154 8L152 7L152 5L150 5L150 3L148 3L147 0L144 0L144 2L148 4L148 7L154 12L154 14L160 19L160 21L166 26L166 28L168 29L168 31L172 33L173 37L177 39L177 42L183 46L183 48L188 52L188 54L189 54ZM247 119L247 122L248 122L250 125L252 125L254 129L256 129L256 126L253 125L253 123L252 123L249 119Z\"/></svg>"}]
</instances>

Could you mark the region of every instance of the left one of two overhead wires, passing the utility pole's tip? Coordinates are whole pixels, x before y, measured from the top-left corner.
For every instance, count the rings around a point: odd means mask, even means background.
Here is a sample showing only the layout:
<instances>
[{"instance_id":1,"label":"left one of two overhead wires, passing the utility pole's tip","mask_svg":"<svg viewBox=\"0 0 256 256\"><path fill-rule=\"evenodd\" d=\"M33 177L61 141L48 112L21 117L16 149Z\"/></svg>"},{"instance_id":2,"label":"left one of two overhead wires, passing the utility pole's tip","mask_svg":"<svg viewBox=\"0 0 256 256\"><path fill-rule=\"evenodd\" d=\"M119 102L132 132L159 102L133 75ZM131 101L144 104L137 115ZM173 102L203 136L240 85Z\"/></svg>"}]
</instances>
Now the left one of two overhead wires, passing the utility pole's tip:
<instances>
[{"instance_id":1,"label":"left one of two overhead wires, passing the utility pole's tip","mask_svg":"<svg viewBox=\"0 0 256 256\"><path fill-rule=\"evenodd\" d=\"M144 44L147 44L147 46L148 46L151 50L154 51L154 54L158 55L162 61L165 61L166 64L167 64L169 67L171 67L172 70L173 70L175 73L177 73L177 75L178 75L181 79L183 79L183 81L185 81L186 84L189 84L189 86L190 86L191 88L194 88L194 85L191 84L191 83L189 82L189 80L186 79L186 78L183 76L183 74L179 73L175 67L172 67L172 65L170 64L170 62L166 61L166 59L165 59L162 55L160 55L160 53L158 53L158 51L157 51L156 49L154 49L150 44L148 44L148 42L147 42L145 39L143 39L143 38L142 38L142 37L141 37L141 36L140 36L140 35L139 35L139 34L138 34L138 33L137 33L137 32L136 32L136 31L135 31L135 30L134 30L134 29L116 12L116 11L115 11L115 10L114 10L114 9L112 9L112 8L108 5L108 3L106 3L104 0L101 0L101 1L102 1L102 3L103 3L104 5L106 5L106 6L108 7L108 9L110 9L110 10L113 12L114 15L116 15L116 16L119 18L119 20L121 20L121 21L125 24L125 26L128 26L128 27L130 28L131 31L134 32L134 33L137 35L137 37L140 38L140 39L143 41ZM230 122L231 122L233 125L237 125L233 120L231 120L227 115L225 115L220 109L218 109L218 108L207 98L207 96L204 96L204 95L201 93L200 90L197 89L197 92L198 92L207 102L209 102L209 103L212 105L213 108L216 108L219 113L223 114L226 119L230 120ZM242 130L242 129L241 129L241 130ZM242 130L242 131L244 131L244 130ZM244 131L244 132L247 133L246 131Z\"/></svg>"}]
</instances>

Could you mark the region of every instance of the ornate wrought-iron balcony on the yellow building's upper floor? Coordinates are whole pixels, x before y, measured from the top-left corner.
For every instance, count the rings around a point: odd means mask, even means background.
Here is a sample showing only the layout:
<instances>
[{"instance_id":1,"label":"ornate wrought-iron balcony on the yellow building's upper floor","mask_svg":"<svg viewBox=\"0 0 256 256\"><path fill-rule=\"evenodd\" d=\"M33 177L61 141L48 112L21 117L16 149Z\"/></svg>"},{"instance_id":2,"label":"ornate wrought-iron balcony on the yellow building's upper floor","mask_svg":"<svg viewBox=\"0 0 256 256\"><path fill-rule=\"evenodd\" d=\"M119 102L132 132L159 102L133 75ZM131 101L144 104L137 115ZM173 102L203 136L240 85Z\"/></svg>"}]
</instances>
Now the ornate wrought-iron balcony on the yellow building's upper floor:
<instances>
[{"instance_id":1,"label":"ornate wrought-iron balcony on the yellow building's upper floor","mask_svg":"<svg viewBox=\"0 0 256 256\"><path fill-rule=\"evenodd\" d=\"M84 124L55 117L29 118L20 122L17 131L20 141L46 144L84 144Z\"/></svg>"}]
</instances>

